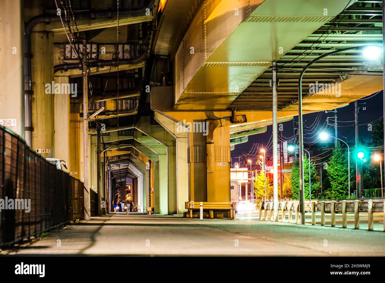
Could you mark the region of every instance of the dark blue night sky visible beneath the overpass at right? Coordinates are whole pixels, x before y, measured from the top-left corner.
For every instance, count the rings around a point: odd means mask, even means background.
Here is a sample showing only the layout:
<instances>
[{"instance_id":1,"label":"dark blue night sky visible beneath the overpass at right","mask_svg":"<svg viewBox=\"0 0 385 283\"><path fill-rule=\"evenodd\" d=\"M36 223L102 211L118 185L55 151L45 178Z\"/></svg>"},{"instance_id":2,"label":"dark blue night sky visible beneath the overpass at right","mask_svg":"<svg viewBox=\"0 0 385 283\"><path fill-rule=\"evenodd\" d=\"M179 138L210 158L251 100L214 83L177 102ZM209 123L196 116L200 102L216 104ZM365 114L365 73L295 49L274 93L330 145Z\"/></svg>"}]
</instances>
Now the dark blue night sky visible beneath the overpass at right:
<instances>
[{"instance_id":1,"label":"dark blue night sky visible beneath the overpass at right","mask_svg":"<svg viewBox=\"0 0 385 283\"><path fill-rule=\"evenodd\" d=\"M365 104L364 104L365 103ZM372 134L368 131L368 124L372 122L376 122L376 120L383 117L383 93L382 90L377 94L372 94L370 96L364 97L363 99L358 100L358 124L359 126L359 135L360 139L363 139L365 142L371 142ZM366 107L364 110L363 108ZM334 127L326 126L326 118L333 117L334 113L325 113L322 112L322 116L320 117L321 112L315 112L311 114L306 114L303 116L303 120L306 120L306 127L308 127L308 134L304 134L304 142L305 143L325 143L317 140L319 137L319 133L323 132L327 129L328 133L331 136L334 136ZM318 119L317 119L318 117ZM298 121L298 116L295 116L294 119ZM317 120L316 120L317 119ZM334 119L334 118L333 118ZM318 122L319 120L319 122ZM338 121L338 138L342 139L348 143L354 143L355 141L355 133L354 133L354 102L346 105L345 107L341 107L337 109L337 121ZM334 121L329 121L329 123L334 123ZM283 136L286 138L290 138L293 136L293 122L288 121L283 124ZM316 126L318 125L318 126ZM250 152L253 149L254 143L263 143L264 146L270 144L271 146L271 134L272 134L272 126L267 127L267 131L262 134L256 134L253 136L249 136L249 141L243 144L238 144L235 146L235 149L231 151L231 157L233 157L233 162L238 161L234 157L238 157L242 155L242 152ZM284 140L288 140L284 138ZM297 136L298 142L298 136ZM333 139L330 138L330 142L333 142ZM262 146L261 146L262 147ZM311 147L311 146L310 146ZM255 147L253 152L255 151ZM270 156L272 154L273 149L270 148L267 152L267 155ZM259 154L252 156L252 158L257 157ZM254 162L253 162L254 163Z\"/></svg>"}]
</instances>

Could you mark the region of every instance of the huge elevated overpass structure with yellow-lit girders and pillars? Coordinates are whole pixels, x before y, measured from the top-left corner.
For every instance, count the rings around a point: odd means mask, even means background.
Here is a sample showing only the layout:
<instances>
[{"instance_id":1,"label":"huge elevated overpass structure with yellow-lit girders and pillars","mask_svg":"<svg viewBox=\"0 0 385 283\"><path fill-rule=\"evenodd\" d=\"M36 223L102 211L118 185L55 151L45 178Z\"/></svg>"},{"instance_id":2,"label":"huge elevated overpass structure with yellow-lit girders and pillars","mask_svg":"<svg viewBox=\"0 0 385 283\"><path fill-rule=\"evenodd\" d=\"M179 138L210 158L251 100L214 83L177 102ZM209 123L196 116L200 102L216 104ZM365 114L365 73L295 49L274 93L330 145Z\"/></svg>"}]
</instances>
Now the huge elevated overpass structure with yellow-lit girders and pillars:
<instances>
[{"instance_id":1,"label":"huge elevated overpass structure with yellow-lit girders and pillars","mask_svg":"<svg viewBox=\"0 0 385 283\"><path fill-rule=\"evenodd\" d=\"M86 220L91 191L105 203L95 214L107 214L129 180L139 213L229 202L231 147L298 115L303 67L383 44L378 1L122 1L119 18L109 0L72 11L60 1L2 3L0 119L83 182ZM358 50L320 60L303 79L303 114L380 91L382 69ZM76 96L62 93L67 84Z\"/></svg>"}]
</instances>

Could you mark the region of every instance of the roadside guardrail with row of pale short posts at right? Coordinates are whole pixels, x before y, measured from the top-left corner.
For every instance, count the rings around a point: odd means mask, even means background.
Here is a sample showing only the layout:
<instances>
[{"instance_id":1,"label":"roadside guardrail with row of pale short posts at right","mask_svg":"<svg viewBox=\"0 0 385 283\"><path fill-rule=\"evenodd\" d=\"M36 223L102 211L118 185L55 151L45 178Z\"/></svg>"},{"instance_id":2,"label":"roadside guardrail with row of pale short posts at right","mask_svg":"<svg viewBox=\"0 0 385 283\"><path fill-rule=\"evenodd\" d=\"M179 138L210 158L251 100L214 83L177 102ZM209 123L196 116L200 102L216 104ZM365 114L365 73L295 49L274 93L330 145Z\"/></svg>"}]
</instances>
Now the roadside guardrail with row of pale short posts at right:
<instances>
[{"instance_id":1,"label":"roadside guardrail with row of pale short posts at right","mask_svg":"<svg viewBox=\"0 0 385 283\"><path fill-rule=\"evenodd\" d=\"M278 214L273 215L274 202L261 201L259 204L259 220L278 221ZM278 209L281 213L281 222L298 223L299 201L279 201ZM268 218L268 211L269 218ZM286 221L286 211L288 211L288 221ZM295 221L292 221L292 213L295 212ZM334 227L336 220L335 214L342 213L342 228L347 227L347 212L354 212L354 228L360 228L360 212L368 213L368 230L373 230L373 212L383 213L385 223L385 199L314 199L305 201L305 211L311 211L311 224L316 224L315 213L321 211L321 226L325 226L325 213L331 214L331 226ZM383 226L385 231L385 225Z\"/></svg>"}]
</instances>

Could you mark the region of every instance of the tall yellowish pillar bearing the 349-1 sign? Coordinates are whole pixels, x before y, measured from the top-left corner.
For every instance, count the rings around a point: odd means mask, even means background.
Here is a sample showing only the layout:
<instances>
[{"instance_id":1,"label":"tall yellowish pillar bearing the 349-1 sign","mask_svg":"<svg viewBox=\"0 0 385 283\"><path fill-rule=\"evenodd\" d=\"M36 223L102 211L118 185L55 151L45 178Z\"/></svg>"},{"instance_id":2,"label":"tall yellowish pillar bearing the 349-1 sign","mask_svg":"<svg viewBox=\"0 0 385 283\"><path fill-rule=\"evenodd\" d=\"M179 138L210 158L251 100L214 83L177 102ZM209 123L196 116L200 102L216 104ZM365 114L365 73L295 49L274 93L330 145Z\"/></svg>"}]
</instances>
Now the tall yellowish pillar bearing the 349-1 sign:
<instances>
[{"instance_id":1,"label":"tall yellowish pillar bearing the 349-1 sign","mask_svg":"<svg viewBox=\"0 0 385 283\"><path fill-rule=\"evenodd\" d=\"M52 32L31 33L32 70L32 148L49 149L44 157L54 154L54 93L53 80L53 34ZM49 87L47 87L49 84ZM47 85L47 86L46 86ZM55 86L54 92L55 91ZM46 90L48 93L46 93ZM60 87L61 91L61 87ZM62 95L62 94L57 94Z\"/></svg>"}]
</instances>

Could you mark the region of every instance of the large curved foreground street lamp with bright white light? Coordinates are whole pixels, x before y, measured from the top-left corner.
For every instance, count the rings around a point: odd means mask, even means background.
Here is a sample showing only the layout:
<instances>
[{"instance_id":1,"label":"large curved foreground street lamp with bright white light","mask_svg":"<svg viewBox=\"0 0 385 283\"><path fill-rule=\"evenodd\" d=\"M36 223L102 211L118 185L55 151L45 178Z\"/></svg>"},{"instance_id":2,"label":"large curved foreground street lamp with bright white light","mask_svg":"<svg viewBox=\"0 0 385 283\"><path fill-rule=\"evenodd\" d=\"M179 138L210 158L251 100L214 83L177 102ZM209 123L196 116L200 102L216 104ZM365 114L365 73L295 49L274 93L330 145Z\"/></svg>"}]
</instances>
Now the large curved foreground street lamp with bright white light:
<instances>
[{"instance_id":1,"label":"large curved foreground street lamp with bright white light","mask_svg":"<svg viewBox=\"0 0 385 283\"><path fill-rule=\"evenodd\" d=\"M344 49L338 49L329 53L325 53L321 55L320 57L317 57L316 59L309 62L301 71L300 76L298 78L298 128L299 128L299 146L300 146L300 152L299 152L299 158L300 158L300 214L301 214L301 224L305 224L305 191L304 191L304 184L303 184L303 117L302 117L302 77L303 74L305 74L306 70L313 65L315 62L325 58L326 56L334 55L340 52L345 52L348 50L362 50L364 55L367 57L370 57L373 59L375 55L379 57L380 48L377 47L377 50L374 49L373 45L363 45L359 47L349 47ZM384 100L385 103L385 100ZM384 131L385 135L385 131Z\"/></svg>"}]
</instances>

